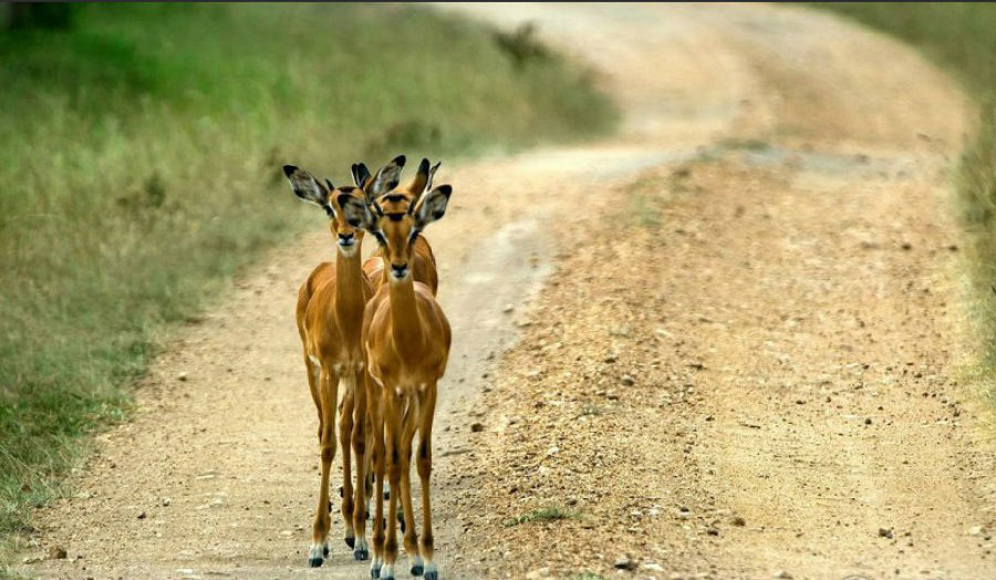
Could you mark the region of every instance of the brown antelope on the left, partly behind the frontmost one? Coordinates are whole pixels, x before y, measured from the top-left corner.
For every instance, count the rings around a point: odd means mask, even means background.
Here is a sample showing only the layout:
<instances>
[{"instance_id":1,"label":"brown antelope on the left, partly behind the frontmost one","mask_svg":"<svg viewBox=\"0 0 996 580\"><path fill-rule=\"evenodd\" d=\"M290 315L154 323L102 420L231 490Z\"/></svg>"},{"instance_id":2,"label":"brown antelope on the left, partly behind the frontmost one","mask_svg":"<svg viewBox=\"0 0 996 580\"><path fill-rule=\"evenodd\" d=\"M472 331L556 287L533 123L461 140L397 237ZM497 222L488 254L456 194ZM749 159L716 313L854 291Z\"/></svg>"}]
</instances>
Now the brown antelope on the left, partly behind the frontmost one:
<instances>
[{"instance_id":1,"label":"brown antelope on the left, partly behind the frontmost one","mask_svg":"<svg viewBox=\"0 0 996 580\"><path fill-rule=\"evenodd\" d=\"M390 191L397 187L404 167L404 156L385 165L371 179L372 193ZM360 245L363 230L344 219L342 204L346 199L365 204L366 193L352 186L335 188L330 180L319 183L310 173L284 165L283 174L294 195L325 210L329 229L336 240L335 263L322 262L301 284L298 291L295 320L304 348L304 366L308 386L319 415L319 448L322 460L321 488L318 509L312 526L312 543L308 563L312 568L322 565L329 556L329 529L331 527L329 500L329 473L335 457L334 420L342 385L342 404L339 406L339 442L342 446L342 516L345 520L345 542L355 548L353 557L365 560L369 556L365 542L355 545L354 528L365 527L364 457L366 425L366 381L364 354L361 343L363 311L373 296L370 280L361 268ZM359 385L359 386L357 386ZM356 490L353 497L350 466L350 444L356 455Z\"/></svg>"}]
</instances>

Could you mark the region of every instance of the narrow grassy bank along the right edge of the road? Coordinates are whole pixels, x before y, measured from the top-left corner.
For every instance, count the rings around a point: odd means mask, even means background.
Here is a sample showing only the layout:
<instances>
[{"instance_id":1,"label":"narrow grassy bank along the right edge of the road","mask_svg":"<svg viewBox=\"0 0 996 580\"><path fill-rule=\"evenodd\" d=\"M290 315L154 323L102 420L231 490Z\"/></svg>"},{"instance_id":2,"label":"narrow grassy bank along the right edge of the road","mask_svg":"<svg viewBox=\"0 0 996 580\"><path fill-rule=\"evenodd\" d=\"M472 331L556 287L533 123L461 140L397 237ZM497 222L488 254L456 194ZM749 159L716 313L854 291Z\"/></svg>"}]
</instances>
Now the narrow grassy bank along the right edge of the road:
<instances>
[{"instance_id":1,"label":"narrow grassy bank along the right edge of the road","mask_svg":"<svg viewBox=\"0 0 996 580\"><path fill-rule=\"evenodd\" d=\"M996 4L840 2L811 4L853 18L922 50L962 81L979 104L974 141L954 175L958 214L972 246L974 322L982 373L996 401Z\"/></svg>"}]
</instances>

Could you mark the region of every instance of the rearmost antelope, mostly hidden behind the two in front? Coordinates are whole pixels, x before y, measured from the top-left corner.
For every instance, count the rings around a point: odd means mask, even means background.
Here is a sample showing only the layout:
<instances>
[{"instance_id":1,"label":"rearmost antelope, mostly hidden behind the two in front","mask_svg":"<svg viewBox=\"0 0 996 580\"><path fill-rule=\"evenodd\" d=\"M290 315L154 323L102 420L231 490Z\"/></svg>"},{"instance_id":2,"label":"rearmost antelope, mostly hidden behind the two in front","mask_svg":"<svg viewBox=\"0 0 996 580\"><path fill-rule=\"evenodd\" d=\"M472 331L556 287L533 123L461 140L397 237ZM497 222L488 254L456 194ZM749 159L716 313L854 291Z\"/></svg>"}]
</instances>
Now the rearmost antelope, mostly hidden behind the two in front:
<instances>
[{"instance_id":1,"label":"rearmost antelope, mostly hidden behind the two in front","mask_svg":"<svg viewBox=\"0 0 996 580\"><path fill-rule=\"evenodd\" d=\"M436 163L436 165L429 167L429 160L423 158L412 183L391 191L387 201L405 204L417 203L423 193L432 189L433 176L436 175L436 169L439 168L442 163L443 162ZM356 187L367 191L369 200L373 200L376 195L373 195L373 193L370 191L370 185L374 182L371 178L366 165L362 163L354 164L352 170L353 182L356 184ZM366 272L366 276L370 278L374 291L376 291L386 279L386 271L383 267L384 260L382 259L383 252L383 248L377 249L376 253L363 262L363 271ZM436 296L436 291L439 288L438 275L436 273L436 257L433 255L432 246L429 246L428 241L422 235L415 238L412 276L416 282L423 282L428 286L433 291L433 296Z\"/></svg>"}]
</instances>

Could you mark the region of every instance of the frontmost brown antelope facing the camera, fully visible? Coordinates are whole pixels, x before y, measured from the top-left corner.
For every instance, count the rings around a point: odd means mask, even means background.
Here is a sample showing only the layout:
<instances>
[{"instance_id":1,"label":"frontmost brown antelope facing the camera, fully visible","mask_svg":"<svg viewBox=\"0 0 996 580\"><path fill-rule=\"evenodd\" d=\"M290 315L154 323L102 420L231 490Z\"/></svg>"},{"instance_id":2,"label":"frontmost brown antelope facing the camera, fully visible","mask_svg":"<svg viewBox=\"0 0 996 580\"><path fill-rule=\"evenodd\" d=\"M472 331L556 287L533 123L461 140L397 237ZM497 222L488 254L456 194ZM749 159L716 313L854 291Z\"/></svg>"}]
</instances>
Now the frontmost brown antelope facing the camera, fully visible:
<instances>
[{"instance_id":1,"label":"frontmost brown antelope facing the camera, fully visible","mask_svg":"<svg viewBox=\"0 0 996 580\"><path fill-rule=\"evenodd\" d=\"M412 574L437 580L433 563L432 473L433 416L436 384L446 371L450 329L432 288L413 276L415 241L419 232L443 217L452 187L442 185L407 203L391 194L372 204L340 195L346 221L363 228L381 245L386 283L382 283L363 313L363 350L367 364L367 398L372 422L373 469L376 475L376 508L373 526L374 556L371 577L394 579L397 558L397 500L409 524L404 530L405 551L413 557ZM416 466L422 483L422 546L415 535L412 510L412 442L418 432ZM391 484L385 530L384 475ZM383 567L383 568L382 568Z\"/></svg>"}]
</instances>

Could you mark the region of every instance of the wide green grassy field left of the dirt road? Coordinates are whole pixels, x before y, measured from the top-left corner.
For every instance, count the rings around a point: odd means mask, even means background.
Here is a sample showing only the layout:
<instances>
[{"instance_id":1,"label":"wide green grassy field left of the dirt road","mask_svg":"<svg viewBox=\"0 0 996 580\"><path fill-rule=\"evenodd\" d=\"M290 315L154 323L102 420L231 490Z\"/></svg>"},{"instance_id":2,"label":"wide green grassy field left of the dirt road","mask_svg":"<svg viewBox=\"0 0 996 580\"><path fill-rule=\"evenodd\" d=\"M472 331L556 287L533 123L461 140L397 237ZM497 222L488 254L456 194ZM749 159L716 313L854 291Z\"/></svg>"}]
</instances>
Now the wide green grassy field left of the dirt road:
<instances>
[{"instance_id":1,"label":"wide green grassy field left of the dirt road","mask_svg":"<svg viewBox=\"0 0 996 580\"><path fill-rule=\"evenodd\" d=\"M30 507L59 491L81 436L127 417L169 324L319 226L281 164L347 182L360 159L452 160L599 135L616 117L557 54L523 62L488 28L417 7L72 15L65 30L0 30L7 538L31 531Z\"/></svg>"}]
</instances>

